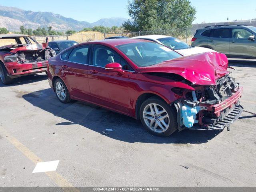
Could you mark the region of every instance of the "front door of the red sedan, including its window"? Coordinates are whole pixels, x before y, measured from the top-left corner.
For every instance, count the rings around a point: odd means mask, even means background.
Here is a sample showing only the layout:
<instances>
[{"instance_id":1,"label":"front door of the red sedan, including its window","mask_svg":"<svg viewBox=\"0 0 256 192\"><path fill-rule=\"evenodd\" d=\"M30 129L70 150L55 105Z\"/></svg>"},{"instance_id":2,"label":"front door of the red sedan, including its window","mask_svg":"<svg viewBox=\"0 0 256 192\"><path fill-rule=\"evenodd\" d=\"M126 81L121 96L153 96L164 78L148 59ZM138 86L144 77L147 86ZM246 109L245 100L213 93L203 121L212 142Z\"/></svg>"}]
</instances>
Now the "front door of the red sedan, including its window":
<instances>
[{"instance_id":1,"label":"front door of the red sedan, including its window","mask_svg":"<svg viewBox=\"0 0 256 192\"><path fill-rule=\"evenodd\" d=\"M129 67L114 50L95 45L88 73L92 102L118 112L129 113ZM105 70L108 63L118 62L126 70L125 74Z\"/></svg>"}]
</instances>

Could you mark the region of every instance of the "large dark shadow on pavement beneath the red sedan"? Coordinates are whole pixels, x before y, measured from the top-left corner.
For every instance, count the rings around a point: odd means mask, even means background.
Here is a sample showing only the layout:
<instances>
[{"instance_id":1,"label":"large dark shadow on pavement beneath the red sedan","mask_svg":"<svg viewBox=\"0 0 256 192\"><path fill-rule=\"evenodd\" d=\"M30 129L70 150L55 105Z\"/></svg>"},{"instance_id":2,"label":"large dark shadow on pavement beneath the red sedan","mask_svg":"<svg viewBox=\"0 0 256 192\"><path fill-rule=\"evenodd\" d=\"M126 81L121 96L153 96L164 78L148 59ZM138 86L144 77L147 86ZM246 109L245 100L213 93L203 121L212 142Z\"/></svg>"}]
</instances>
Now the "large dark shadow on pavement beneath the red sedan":
<instances>
[{"instance_id":1,"label":"large dark shadow on pavement beneath the red sedan","mask_svg":"<svg viewBox=\"0 0 256 192\"><path fill-rule=\"evenodd\" d=\"M107 135L108 137L124 142L200 144L208 142L220 133L220 131L184 130L177 131L167 138L160 138L148 133L140 121L134 118L78 101L62 104L50 88L24 94L22 98L54 116L67 120L56 124L60 127L79 124L100 134L109 128L113 131Z\"/></svg>"}]
</instances>

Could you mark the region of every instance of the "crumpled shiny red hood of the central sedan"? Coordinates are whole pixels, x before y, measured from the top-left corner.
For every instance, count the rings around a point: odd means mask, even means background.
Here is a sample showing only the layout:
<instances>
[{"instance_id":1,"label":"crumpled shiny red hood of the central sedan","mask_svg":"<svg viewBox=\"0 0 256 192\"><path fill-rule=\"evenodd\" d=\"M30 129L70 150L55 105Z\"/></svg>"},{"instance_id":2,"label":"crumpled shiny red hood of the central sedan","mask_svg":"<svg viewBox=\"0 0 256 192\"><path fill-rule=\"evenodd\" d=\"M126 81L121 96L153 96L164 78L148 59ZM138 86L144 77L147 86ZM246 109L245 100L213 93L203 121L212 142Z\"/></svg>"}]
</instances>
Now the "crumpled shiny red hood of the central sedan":
<instances>
[{"instance_id":1,"label":"crumpled shiny red hood of the central sedan","mask_svg":"<svg viewBox=\"0 0 256 192\"><path fill-rule=\"evenodd\" d=\"M196 85L216 85L216 79L228 74L228 59L218 52L206 52L161 62L148 67L139 67L139 73L178 74Z\"/></svg>"}]
</instances>

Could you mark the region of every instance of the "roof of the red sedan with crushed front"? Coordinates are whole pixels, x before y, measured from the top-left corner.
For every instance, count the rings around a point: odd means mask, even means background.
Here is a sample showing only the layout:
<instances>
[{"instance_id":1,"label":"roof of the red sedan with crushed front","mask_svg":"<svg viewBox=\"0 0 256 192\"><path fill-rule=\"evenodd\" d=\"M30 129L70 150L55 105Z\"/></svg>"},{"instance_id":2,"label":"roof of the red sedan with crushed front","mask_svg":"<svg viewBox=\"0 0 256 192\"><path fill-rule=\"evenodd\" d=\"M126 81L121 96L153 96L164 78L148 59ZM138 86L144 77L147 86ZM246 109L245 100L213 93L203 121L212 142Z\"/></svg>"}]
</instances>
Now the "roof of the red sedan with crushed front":
<instances>
[{"instance_id":1,"label":"roof of the red sedan with crushed front","mask_svg":"<svg viewBox=\"0 0 256 192\"><path fill-rule=\"evenodd\" d=\"M86 42L84 44L94 44L94 43L99 43L99 44L108 44L111 46L118 46L118 45L123 45L123 44L129 44L129 43L136 43L136 42L148 42L147 40L142 40L142 39L130 39L130 38L125 38L125 39L104 39L104 40L97 40L97 41L91 41L91 42Z\"/></svg>"}]
</instances>

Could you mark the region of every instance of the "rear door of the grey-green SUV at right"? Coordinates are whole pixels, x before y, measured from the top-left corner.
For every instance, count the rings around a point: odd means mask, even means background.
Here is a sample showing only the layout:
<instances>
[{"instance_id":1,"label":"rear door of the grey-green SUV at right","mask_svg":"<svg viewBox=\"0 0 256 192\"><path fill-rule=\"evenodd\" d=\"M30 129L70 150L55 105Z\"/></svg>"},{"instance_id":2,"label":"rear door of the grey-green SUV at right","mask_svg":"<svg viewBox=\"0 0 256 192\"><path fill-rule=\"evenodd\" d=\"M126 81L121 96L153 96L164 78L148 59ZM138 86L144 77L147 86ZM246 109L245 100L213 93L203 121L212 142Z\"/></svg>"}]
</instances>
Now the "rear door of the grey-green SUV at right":
<instances>
[{"instance_id":1,"label":"rear door of the grey-green SUV at right","mask_svg":"<svg viewBox=\"0 0 256 192\"><path fill-rule=\"evenodd\" d=\"M208 45L214 50L226 54L229 56L230 50L230 28L218 28L213 29L210 39L208 40Z\"/></svg>"}]
</instances>

